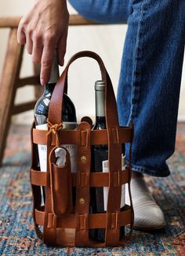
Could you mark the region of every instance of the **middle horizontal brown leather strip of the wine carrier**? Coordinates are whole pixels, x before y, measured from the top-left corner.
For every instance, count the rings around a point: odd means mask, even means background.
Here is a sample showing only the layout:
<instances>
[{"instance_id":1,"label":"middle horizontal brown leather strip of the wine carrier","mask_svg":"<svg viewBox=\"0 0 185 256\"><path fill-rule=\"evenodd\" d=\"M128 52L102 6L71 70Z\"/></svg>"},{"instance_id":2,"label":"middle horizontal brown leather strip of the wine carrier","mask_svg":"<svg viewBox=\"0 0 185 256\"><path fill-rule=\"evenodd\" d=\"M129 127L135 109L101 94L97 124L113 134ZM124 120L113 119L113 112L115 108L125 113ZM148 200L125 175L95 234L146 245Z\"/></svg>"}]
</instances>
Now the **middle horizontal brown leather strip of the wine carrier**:
<instances>
[{"instance_id":1,"label":"middle horizontal brown leather strip of the wine carrier","mask_svg":"<svg viewBox=\"0 0 185 256\"><path fill-rule=\"evenodd\" d=\"M120 171L120 183L129 182L129 167ZM72 184L77 184L77 173L72 174ZM36 186L46 186L46 172L35 171L31 169L31 184ZM109 187L109 173L90 173L90 187Z\"/></svg>"}]
</instances>

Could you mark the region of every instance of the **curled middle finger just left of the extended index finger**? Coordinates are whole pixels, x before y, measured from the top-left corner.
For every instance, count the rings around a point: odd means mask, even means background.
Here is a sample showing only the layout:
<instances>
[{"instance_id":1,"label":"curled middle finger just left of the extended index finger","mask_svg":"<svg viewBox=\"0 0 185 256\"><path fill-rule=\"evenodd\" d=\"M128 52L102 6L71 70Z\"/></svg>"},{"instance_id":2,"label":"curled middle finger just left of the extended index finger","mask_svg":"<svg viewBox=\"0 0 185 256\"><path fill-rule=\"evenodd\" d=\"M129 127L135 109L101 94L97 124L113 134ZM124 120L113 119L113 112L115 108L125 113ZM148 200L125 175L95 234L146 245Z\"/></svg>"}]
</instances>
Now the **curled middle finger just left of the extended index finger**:
<instances>
[{"instance_id":1,"label":"curled middle finger just left of the extended index finger","mask_svg":"<svg viewBox=\"0 0 185 256\"><path fill-rule=\"evenodd\" d=\"M40 63L42 59L42 36L35 35L33 39L32 61L34 63Z\"/></svg>"}]
</instances>

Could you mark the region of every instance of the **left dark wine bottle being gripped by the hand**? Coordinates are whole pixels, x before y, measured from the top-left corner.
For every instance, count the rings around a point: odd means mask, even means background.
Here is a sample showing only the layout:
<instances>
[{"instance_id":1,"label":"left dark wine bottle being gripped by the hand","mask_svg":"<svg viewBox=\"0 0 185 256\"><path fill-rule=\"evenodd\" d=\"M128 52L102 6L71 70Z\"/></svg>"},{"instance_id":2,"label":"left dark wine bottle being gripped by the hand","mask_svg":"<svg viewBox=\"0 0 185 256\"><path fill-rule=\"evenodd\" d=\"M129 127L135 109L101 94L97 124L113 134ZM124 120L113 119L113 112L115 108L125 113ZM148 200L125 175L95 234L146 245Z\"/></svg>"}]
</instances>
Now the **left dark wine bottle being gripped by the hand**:
<instances>
[{"instance_id":1,"label":"left dark wine bottle being gripped by the hand","mask_svg":"<svg viewBox=\"0 0 185 256\"><path fill-rule=\"evenodd\" d=\"M59 79L59 66L57 59L57 52L55 51L53 65L50 73L49 82L45 84L45 90L41 98L38 99L34 107L34 121L37 129L48 130L47 118L49 113L49 103L53 94L53 90L56 86L56 82ZM75 129L77 126L76 111L71 99L64 94L63 95L63 129ZM76 145L61 145L67 148L71 158L71 172L76 172ZM47 168L47 147L46 145L38 145L38 158L39 167L42 172L46 172ZM75 202L75 198L73 198Z\"/></svg>"}]
</instances>

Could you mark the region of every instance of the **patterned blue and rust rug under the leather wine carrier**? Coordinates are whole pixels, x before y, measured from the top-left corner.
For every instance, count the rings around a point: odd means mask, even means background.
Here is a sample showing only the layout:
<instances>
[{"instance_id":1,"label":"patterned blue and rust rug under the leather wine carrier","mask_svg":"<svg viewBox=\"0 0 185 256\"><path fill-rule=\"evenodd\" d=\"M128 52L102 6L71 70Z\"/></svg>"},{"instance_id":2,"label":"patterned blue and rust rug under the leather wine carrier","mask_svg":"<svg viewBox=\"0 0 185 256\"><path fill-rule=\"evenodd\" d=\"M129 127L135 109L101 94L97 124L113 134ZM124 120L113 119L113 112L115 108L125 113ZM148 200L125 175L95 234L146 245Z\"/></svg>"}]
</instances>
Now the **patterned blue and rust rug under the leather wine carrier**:
<instances>
[{"instance_id":1,"label":"patterned blue and rust rug under the leather wine carrier","mask_svg":"<svg viewBox=\"0 0 185 256\"><path fill-rule=\"evenodd\" d=\"M171 176L147 177L154 198L165 213L163 232L134 231L124 247L53 248L35 232L31 217L29 127L13 126L0 169L1 255L185 255L185 124L178 125L176 152L169 159Z\"/></svg>"}]
</instances>

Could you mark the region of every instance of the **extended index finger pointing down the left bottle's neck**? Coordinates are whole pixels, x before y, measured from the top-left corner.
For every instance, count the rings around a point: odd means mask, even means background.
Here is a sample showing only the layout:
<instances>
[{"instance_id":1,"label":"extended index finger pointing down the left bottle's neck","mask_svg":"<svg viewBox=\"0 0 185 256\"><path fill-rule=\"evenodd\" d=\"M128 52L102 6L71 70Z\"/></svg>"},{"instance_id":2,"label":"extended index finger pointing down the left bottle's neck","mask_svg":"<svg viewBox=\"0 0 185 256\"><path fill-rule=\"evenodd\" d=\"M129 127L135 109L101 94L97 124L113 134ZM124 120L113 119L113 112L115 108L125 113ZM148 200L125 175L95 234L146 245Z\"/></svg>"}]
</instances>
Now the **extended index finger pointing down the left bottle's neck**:
<instances>
[{"instance_id":1,"label":"extended index finger pointing down the left bottle's neck","mask_svg":"<svg viewBox=\"0 0 185 256\"><path fill-rule=\"evenodd\" d=\"M51 66L53 63L53 54L54 54L54 45L50 46L49 44L45 44L42 51L42 59L41 59L41 75L40 80L41 84L45 85L48 82Z\"/></svg>"}]
</instances>

